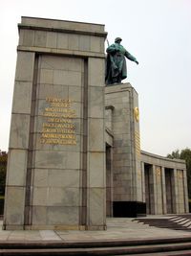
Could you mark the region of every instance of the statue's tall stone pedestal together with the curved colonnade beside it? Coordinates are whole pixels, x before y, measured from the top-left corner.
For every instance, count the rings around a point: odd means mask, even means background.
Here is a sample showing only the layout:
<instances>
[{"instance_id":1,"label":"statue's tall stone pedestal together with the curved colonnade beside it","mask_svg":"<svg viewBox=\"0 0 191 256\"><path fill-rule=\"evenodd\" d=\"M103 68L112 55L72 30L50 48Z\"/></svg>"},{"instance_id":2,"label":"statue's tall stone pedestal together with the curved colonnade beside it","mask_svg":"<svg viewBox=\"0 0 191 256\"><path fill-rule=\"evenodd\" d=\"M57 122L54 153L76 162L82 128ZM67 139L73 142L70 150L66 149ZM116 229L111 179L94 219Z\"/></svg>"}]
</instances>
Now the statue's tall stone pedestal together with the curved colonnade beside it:
<instances>
[{"instance_id":1,"label":"statue's tall stone pedestal together with the curved colonnade beside it","mask_svg":"<svg viewBox=\"0 0 191 256\"><path fill-rule=\"evenodd\" d=\"M107 86L105 98L107 215L187 213L185 162L140 151L136 90Z\"/></svg>"}]
</instances>

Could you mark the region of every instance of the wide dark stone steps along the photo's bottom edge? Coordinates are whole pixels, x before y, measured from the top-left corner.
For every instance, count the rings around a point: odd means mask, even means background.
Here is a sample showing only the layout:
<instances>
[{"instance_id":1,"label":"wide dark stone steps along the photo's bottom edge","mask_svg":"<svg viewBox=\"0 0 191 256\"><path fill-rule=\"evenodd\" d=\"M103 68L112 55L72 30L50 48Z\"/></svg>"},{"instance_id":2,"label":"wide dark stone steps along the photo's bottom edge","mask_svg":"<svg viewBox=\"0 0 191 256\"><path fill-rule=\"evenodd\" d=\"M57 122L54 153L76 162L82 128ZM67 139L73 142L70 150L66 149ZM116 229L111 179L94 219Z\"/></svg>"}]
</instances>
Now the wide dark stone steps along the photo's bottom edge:
<instances>
[{"instance_id":1,"label":"wide dark stone steps along the photo's bottom edge","mask_svg":"<svg viewBox=\"0 0 191 256\"><path fill-rule=\"evenodd\" d=\"M191 238L96 242L1 242L0 255L191 255Z\"/></svg>"}]
</instances>

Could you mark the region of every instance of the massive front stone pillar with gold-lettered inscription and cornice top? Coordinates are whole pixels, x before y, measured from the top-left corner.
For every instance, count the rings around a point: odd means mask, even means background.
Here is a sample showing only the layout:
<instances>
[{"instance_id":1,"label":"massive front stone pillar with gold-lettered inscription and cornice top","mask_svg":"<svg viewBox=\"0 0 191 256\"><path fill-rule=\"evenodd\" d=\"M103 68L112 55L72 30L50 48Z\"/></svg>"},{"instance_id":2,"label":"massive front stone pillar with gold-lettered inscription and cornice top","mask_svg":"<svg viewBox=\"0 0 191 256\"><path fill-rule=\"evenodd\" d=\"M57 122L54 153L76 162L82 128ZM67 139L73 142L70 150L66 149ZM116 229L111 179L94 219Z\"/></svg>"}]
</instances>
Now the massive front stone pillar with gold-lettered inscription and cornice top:
<instances>
[{"instance_id":1,"label":"massive front stone pillar with gold-lettered inscription and cornice top","mask_svg":"<svg viewBox=\"0 0 191 256\"><path fill-rule=\"evenodd\" d=\"M105 229L104 25L22 17L5 229Z\"/></svg>"}]
</instances>

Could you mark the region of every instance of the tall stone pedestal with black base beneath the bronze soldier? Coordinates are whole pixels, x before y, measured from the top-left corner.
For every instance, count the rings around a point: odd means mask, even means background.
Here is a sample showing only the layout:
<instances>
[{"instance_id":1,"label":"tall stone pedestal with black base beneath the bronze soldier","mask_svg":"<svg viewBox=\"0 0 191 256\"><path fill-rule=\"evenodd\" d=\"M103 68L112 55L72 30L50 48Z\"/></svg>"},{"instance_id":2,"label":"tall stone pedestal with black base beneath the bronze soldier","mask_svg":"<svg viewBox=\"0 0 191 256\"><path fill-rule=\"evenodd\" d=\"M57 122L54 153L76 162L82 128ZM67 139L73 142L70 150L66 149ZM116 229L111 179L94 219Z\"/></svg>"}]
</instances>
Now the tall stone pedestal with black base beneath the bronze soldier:
<instances>
[{"instance_id":1,"label":"tall stone pedestal with black base beneath the bronze soldier","mask_svg":"<svg viewBox=\"0 0 191 256\"><path fill-rule=\"evenodd\" d=\"M145 215L142 201L138 93L130 83L106 86L106 109L113 106L114 216Z\"/></svg>"}]
</instances>

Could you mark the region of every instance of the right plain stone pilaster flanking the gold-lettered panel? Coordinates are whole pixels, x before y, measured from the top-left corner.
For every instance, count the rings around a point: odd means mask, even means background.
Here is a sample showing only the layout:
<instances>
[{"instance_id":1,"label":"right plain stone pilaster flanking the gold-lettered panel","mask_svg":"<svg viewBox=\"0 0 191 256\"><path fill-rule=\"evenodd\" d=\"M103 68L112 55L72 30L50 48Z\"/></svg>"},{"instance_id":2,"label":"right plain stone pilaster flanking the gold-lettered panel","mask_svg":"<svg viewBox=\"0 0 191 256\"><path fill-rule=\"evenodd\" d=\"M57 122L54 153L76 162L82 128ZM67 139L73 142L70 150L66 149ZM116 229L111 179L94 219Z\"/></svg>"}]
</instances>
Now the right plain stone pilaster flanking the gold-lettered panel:
<instances>
[{"instance_id":1,"label":"right plain stone pilaster flanking the gold-lettered panel","mask_svg":"<svg viewBox=\"0 0 191 256\"><path fill-rule=\"evenodd\" d=\"M93 230L106 226L104 59L89 58L88 70L87 228Z\"/></svg>"}]
</instances>

